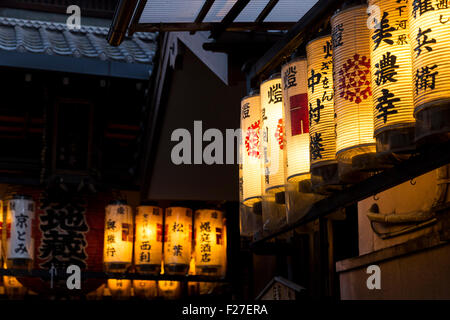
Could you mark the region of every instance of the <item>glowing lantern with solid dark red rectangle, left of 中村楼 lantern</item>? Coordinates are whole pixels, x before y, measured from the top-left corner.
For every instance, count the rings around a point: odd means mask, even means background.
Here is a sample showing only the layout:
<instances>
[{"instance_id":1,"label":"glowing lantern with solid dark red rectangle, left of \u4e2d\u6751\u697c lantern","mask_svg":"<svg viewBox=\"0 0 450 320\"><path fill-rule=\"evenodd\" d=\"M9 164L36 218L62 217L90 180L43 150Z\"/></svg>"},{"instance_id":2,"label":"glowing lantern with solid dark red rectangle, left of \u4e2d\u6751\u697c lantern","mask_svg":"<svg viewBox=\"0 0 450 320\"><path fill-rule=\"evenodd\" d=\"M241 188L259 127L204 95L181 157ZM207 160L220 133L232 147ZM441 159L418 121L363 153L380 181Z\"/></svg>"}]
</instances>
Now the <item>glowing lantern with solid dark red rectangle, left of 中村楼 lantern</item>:
<instances>
[{"instance_id":1,"label":"glowing lantern with solid dark red rectangle, left of \u4e2d\u6751\u697c lantern","mask_svg":"<svg viewBox=\"0 0 450 320\"><path fill-rule=\"evenodd\" d=\"M296 58L281 68L287 181L309 173L307 62Z\"/></svg>"}]
</instances>

